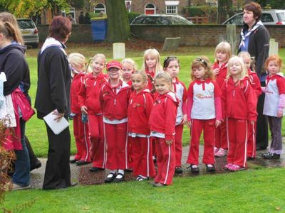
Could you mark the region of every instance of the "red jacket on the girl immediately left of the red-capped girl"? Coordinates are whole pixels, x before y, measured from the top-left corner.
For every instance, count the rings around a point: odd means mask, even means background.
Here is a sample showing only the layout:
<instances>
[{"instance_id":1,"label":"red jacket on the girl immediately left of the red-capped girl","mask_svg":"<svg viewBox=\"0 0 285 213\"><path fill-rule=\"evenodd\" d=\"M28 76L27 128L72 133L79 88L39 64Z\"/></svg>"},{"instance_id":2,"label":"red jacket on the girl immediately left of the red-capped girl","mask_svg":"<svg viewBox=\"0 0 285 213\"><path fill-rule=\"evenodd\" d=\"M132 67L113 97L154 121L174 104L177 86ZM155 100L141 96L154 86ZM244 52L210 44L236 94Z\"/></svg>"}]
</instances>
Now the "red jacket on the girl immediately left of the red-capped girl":
<instances>
[{"instance_id":1,"label":"red jacket on the girl immediately left of the red-capped girl","mask_svg":"<svg viewBox=\"0 0 285 213\"><path fill-rule=\"evenodd\" d=\"M94 77L92 73L87 75L78 92L79 106L86 106L90 114L101 114L100 89L106 82L108 82L108 75L104 73L100 73L97 77Z\"/></svg>"}]
</instances>

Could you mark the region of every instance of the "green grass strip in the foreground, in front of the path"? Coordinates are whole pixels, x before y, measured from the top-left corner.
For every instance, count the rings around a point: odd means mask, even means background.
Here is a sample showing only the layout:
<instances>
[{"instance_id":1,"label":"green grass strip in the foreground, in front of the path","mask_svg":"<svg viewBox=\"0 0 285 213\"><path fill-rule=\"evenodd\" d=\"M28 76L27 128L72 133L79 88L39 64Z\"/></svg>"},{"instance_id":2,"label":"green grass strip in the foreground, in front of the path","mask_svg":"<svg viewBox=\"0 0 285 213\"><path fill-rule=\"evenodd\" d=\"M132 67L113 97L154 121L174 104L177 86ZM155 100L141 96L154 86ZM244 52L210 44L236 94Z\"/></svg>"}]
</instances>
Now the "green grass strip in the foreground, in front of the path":
<instances>
[{"instance_id":1,"label":"green grass strip in the foreground, in front of the path","mask_svg":"<svg viewBox=\"0 0 285 213\"><path fill-rule=\"evenodd\" d=\"M284 175L285 168L267 168L175 178L163 188L123 182L23 190L7 193L2 206L13 212L285 212Z\"/></svg>"}]
</instances>

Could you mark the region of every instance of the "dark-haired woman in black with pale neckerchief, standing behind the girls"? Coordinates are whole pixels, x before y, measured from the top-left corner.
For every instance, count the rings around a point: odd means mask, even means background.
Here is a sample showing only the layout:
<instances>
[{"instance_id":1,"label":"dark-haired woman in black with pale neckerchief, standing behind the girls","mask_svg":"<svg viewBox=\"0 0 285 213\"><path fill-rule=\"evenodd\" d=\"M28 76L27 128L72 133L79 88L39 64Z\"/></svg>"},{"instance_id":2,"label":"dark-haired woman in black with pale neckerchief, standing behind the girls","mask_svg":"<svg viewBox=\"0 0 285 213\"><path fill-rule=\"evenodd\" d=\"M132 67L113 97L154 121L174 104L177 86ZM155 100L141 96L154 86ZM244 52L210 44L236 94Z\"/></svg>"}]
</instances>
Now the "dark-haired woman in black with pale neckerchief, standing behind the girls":
<instances>
[{"instance_id":1,"label":"dark-haired woman in black with pale neckerchief, standing behind the girls","mask_svg":"<svg viewBox=\"0 0 285 213\"><path fill-rule=\"evenodd\" d=\"M261 86L265 86L266 70L264 62L269 55L270 36L261 23L261 6L250 2L244 6L244 27L241 32L239 52L247 51L255 59L255 70L259 76ZM266 116L263 115L264 94L261 94L257 104L257 148L266 149L268 146L268 126Z\"/></svg>"}]
</instances>

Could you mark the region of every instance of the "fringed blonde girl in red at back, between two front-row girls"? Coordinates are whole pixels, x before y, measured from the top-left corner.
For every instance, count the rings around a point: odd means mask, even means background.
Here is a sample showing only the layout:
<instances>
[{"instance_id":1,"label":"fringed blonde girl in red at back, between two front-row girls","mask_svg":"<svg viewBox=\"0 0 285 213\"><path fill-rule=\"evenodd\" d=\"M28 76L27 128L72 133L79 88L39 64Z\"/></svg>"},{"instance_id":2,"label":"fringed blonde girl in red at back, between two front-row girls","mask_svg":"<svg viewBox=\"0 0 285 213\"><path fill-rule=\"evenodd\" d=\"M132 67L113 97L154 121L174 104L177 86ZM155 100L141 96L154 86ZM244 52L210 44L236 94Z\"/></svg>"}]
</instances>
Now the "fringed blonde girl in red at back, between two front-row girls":
<instances>
[{"instance_id":1,"label":"fringed blonde girl in red at back, between two front-row girls","mask_svg":"<svg viewBox=\"0 0 285 213\"><path fill-rule=\"evenodd\" d=\"M232 48L229 43L223 41L219 43L214 50L214 65L212 70L216 77L219 88L222 88L222 84L227 76L227 62L232 57ZM222 122L216 128L214 141L214 155L216 157L224 157L227 155L227 131L226 125Z\"/></svg>"}]
</instances>

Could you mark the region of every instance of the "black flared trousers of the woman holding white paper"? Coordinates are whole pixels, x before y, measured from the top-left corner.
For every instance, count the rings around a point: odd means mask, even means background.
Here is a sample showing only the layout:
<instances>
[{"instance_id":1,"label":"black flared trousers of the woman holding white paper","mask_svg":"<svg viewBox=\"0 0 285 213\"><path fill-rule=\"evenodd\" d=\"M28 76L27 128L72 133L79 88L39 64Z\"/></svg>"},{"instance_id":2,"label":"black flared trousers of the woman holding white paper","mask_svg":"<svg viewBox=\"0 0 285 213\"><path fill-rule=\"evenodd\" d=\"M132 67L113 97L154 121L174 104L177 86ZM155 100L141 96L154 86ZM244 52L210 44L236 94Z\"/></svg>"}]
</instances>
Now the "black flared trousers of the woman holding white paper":
<instances>
[{"instance_id":1,"label":"black flared trousers of the woman holding white paper","mask_svg":"<svg viewBox=\"0 0 285 213\"><path fill-rule=\"evenodd\" d=\"M46 124L46 131L48 133L48 161L46 162L43 190L70 187L71 133L69 127L56 135Z\"/></svg>"}]
</instances>

